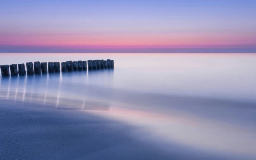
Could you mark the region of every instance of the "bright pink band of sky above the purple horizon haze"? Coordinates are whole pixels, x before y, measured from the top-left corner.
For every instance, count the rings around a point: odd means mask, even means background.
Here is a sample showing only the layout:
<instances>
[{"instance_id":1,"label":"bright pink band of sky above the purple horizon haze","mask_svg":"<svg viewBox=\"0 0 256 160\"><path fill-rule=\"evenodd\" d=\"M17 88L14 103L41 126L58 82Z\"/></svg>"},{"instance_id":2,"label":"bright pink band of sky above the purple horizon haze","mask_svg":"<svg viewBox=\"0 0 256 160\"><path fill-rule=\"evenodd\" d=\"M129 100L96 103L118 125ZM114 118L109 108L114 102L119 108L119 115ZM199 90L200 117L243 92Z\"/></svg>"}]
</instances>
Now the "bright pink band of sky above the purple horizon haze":
<instances>
[{"instance_id":1,"label":"bright pink band of sky above the purple horizon haze","mask_svg":"<svg viewBox=\"0 0 256 160\"><path fill-rule=\"evenodd\" d=\"M193 48L256 45L256 35L250 33L2 33L1 37L1 45L65 48Z\"/></svg>"}]
</instances>

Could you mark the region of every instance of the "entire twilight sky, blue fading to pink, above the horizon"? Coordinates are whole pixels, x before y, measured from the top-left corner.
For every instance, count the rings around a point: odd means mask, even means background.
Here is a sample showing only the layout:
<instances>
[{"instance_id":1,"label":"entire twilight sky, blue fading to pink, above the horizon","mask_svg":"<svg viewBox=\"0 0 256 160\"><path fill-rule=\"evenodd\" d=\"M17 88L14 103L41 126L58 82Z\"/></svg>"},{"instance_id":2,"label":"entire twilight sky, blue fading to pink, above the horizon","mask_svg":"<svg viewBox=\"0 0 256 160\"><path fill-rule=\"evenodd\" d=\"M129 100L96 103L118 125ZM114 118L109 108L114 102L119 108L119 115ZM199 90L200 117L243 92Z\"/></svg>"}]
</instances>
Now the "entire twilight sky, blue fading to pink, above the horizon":
<instances>
[{"instance_id":1,"label":"entire twilight sky, blue fading to pink, above the horizon","mask_svg":"<svg viewBox=\"0 0 256 160\"><path fill-rule=\"evenodd\" d=\"M256 52L255 0L0 1L0 52Z\"/></svg>"}]
</instances>

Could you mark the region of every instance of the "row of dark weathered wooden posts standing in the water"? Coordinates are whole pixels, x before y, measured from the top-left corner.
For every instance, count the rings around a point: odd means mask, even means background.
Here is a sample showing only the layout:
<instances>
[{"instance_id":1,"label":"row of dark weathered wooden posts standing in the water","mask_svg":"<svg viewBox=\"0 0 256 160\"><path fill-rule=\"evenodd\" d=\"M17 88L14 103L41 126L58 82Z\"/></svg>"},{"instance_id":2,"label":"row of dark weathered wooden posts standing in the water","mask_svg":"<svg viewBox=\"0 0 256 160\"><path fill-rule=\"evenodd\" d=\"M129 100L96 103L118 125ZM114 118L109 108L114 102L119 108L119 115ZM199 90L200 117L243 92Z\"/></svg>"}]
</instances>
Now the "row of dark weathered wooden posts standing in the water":
<instances>
[{"instance_id":1,"label":"row of dark weathered wooden posts standing in the water","mask_svg":"<svg viewBox=\"0 0 256 160\"><path fill-rule=\"evenodd\" d=\"M114 68L114 60L88 60L88 70L98 70L98 69L109 69ZM86 61L66 61L61 62L27 62L27 72L25 69L25 64L11 64L1 65L2 76L17 76L17 75L34 75L34 74L47 74L47 73L58 73L58 72L74 72L74 71L86 71L87 70ZM10 68L10 71L9 71Z\"/></svg>"}]
</instances>

